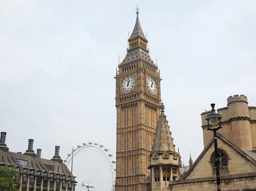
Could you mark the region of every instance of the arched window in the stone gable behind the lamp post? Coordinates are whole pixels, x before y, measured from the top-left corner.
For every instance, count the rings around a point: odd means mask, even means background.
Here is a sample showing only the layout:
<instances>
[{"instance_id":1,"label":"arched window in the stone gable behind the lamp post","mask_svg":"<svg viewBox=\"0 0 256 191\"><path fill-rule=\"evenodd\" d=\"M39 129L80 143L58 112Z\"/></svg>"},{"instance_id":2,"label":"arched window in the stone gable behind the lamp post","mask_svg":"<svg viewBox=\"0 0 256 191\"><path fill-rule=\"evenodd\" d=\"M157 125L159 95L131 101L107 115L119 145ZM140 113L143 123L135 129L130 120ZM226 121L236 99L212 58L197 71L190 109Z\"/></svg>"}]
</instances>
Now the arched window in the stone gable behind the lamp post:
<instances>
[{"instance_id":1,"label":"arched window in the stone gable behind the lamp post","mask_svg":"<svg viewBox=\"0 0 256 191\"><path fill-rule=\"evenodd\" d=\"M218 164L220 174L228 173L228 160L230 160L230 158L227 152L223 149L218 149ZM215 152L212 153L211 162L213 167L213 173L216 174Z\"/></svg>"}]
</instances>

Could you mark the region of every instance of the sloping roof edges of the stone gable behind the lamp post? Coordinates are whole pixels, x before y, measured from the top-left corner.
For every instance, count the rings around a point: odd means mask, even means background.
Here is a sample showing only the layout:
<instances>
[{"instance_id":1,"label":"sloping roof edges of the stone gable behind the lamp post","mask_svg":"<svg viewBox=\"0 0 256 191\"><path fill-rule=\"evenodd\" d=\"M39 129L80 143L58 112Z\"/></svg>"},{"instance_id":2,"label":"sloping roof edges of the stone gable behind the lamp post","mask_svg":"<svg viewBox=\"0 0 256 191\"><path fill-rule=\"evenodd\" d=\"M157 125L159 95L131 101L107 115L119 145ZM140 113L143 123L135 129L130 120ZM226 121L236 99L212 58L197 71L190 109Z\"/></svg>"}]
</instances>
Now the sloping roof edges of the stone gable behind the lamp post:
<instances>
[{"instance_id":1,"label":"sloping roof edges of the stone gable behind the lamp post","mask_svg":"<svg viewBox=\"0 0 256 191\"><path fill-rule=\"evenodd\" d=\"M234 143L232 143L230 140L228 140L226 137L221 135L220 133L217 132L217 138L221 139L224 143L232 147L235 151L237 151L241 156L243 156L246 160L252 162L256 166L256 154L254 154L251 151L244 150L242 148L239 148L236 146ZM189 174L193 171L195 166L198 164L198 162L202 159L204 154L208 151L208 149L211 147L211 145L214 143L214 140L212 140L208 143L208 145L204 148L204 151L199 155L199 157L195 160L194 164L189 168L187 173L181 178L181 180L185 180Z\"/></svg>"}]
</instances>

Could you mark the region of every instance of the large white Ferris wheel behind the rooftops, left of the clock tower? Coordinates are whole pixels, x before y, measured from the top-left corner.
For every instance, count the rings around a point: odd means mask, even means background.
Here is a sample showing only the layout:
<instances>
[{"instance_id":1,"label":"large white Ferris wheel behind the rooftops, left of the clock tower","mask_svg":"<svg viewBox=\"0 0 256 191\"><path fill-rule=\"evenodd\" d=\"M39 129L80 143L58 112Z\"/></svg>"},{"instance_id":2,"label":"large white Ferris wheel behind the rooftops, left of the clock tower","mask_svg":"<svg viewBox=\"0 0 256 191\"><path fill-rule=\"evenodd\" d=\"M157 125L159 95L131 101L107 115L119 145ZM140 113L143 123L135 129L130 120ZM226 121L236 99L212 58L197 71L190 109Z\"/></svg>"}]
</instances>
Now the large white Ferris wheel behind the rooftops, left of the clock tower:
<instances>
[{"instance_id":1,"label":"large white Ferris wheel behind the rooftops, left of the clock tower","mask_svg":"<svg viewBox=\"0 0 256 191\"><path fill-rule=\"evenodd\" d=\"M116 162L107 148L98 143L83 143L67 155L64 163L76 176L76 191L114 191Z\"/></svg>"}]
</instances>

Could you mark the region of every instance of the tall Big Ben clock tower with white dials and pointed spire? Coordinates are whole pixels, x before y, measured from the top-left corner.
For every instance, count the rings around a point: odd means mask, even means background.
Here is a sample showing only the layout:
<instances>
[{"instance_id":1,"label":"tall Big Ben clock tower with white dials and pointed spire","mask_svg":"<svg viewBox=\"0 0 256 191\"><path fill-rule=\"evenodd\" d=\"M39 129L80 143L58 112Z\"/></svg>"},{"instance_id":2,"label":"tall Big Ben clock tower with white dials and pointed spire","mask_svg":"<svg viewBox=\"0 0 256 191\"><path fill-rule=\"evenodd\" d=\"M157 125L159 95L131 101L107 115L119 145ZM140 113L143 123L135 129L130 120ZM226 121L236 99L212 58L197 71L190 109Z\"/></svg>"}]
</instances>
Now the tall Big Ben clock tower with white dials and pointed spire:
<instances>
[{"instance_id":1,"label":"tall Big Ben clock tower with white dials and pointed spire","mask_svg":"<svg viewBox=\"0 0 256 191\"><path fill-rule=\"evenodd\" d=\"M148 157L160 114L160 74L136 9L127 54L116 73L116 191L146 191Z\"/></svg>"}]
</instances>

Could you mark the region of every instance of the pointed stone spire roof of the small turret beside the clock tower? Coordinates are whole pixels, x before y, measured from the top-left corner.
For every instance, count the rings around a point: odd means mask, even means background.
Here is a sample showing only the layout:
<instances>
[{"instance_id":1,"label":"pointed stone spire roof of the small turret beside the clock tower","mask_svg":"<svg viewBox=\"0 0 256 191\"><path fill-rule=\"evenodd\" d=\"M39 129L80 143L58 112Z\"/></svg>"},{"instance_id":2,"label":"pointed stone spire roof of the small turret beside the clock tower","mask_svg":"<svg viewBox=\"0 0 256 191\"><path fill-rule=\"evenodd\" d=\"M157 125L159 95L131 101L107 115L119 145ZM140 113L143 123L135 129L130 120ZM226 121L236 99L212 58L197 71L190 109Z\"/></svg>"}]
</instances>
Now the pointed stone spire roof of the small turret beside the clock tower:
<instances>
[{"instance_id":1,"label":"pointed stone spire roof of the small turret beside the clock tower","mask_svg":"<svg viewBox=\"0 0 256 191\"><path fill-rule=\"evenodd\" d=\"M173 144L168 121L166 120L166 115L164 114L163 102L161 103L160 110L161 114L157 123L157 132L155 135L152 152L155 154L157 154L157 152L166 153L168 151L175 153L175 145Z\"/></svg>"}]
</instances>

